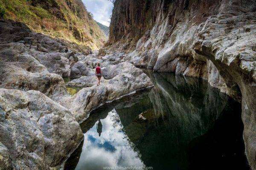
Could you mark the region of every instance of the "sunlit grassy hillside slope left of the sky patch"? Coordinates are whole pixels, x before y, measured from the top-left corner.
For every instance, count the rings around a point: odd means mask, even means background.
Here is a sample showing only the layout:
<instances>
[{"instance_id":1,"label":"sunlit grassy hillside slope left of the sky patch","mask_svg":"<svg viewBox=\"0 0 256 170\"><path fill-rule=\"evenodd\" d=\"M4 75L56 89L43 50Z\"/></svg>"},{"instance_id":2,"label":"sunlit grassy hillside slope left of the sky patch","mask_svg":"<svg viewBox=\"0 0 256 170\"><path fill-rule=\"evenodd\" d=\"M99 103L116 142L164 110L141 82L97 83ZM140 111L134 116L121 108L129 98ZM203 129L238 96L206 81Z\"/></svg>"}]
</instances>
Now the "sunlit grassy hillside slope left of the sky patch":
<instances>
[{"instance_id":1,"label":"sunlit grassy hillside slope left of the sky patch","mask_svg":"<svg viewBox=\"0 0 256 170\"><path fill-rule=\"evenodd\" d=\"M0 17L23 22L33 31L92 49L106 41L81 0L0 0Z\"/></svg>"}]
</instances>

